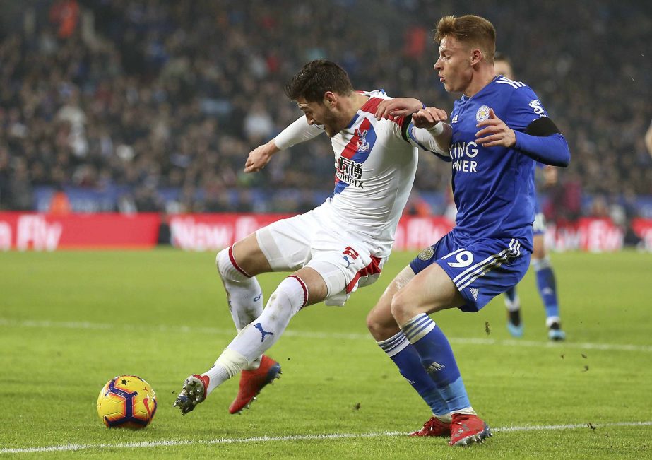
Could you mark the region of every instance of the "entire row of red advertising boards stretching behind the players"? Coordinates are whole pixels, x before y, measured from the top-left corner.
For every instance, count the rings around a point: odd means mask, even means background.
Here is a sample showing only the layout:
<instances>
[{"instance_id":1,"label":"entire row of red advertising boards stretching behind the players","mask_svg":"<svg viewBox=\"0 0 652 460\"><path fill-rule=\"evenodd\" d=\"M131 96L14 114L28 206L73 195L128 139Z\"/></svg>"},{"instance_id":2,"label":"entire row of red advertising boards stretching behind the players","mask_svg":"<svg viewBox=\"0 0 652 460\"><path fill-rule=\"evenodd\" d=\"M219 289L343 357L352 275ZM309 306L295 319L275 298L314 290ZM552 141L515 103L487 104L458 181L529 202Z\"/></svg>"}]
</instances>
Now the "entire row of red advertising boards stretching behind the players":
<instances>
[{"instance_id":1,"label":"entire row of red advertising boards stretching behind the players","mask_svg":"<svg viewBox=\"0 0 652 460\"><path fill-rule=\"evenodd\" d=\"M189 251L217 251L285 214L179 214L170 216L172 244ZM70 214L0 213L0 251L54 249L148 249L158 240L161 217L155 213ZM652 219L632 221L644 247L652 250ZM419 251L453 228L441 216L404 216L396 229L394 249ZM611 252L622 249L622 228L609 219L581 218L563 226L549 225L546 244L551 250L581 249Z\"/></svg>"}]
</instances>

